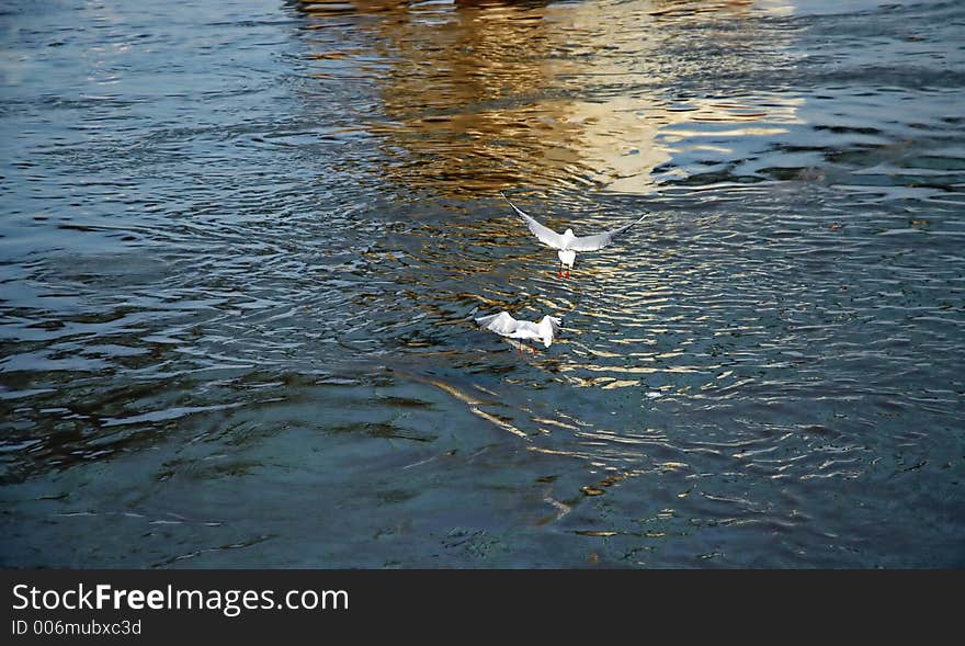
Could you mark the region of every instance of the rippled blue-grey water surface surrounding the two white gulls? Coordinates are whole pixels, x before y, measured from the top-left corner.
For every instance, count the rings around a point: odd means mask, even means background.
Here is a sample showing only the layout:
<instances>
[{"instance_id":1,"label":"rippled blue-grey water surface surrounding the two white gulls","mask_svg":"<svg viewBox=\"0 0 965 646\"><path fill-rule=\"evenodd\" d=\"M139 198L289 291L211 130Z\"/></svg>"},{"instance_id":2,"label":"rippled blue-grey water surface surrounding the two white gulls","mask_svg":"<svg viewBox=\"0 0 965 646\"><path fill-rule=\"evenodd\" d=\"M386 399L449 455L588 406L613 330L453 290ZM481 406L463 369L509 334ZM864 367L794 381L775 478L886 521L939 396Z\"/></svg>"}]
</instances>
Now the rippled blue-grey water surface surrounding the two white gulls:
<instances>
[{"instance_id":1,"label":"rippled blue-grey water surface surrounding the two white gulls","mask_svg":"<svg viewBox=\"0 0 965 646\"><path fill-rule=\"evenodd\" d=\"M2 564L965 566L963 27L4 4Z\"/></svg>"}]
</instances>

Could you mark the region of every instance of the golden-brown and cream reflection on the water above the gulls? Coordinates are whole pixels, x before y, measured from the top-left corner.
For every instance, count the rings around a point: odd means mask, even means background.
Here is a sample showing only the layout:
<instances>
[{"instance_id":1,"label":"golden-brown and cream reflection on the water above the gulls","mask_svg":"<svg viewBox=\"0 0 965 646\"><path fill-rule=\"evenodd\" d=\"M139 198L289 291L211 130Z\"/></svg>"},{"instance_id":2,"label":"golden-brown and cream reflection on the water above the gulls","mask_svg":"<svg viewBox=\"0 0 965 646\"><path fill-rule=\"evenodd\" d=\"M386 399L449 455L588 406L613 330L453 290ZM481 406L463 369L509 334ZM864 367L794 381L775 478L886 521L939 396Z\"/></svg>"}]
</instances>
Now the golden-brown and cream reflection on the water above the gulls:
<instances>
[{"instance_id":1,"label":"golden-brown and cream reflection on the water above the gulls","mask_svg":"<svg viewBox=\"0 0 965 646\"><path fill-rule=\"evenodd\" d=\"M719 157L731 152L722 139L780 134L797 121L799 100L777 94L674 99L674 76L692 70L683 63L648 64L667 44L669 30L661 24L695 14L739 23L736 32L695 35L719 37L725 52L761 41L781 48L785 44L774 42L780 36L752 33L756 12L787 12L781 2L370 0L299 7L318 30L347 12L375 14L359 26L371 37L371 52L317 56L355 58L366 70L379 105L364 127L382 141L385 177L408 189L651 194L685 175L679 169L655 173L674 152ZM707 125L720 123L733 127Z\"/></svg>"}]
</instances>

